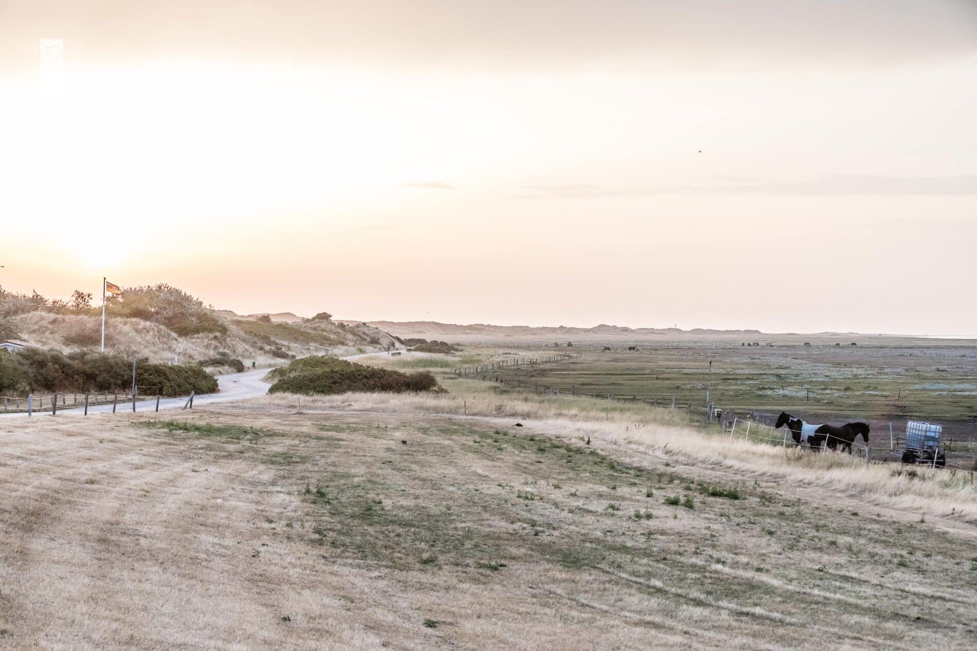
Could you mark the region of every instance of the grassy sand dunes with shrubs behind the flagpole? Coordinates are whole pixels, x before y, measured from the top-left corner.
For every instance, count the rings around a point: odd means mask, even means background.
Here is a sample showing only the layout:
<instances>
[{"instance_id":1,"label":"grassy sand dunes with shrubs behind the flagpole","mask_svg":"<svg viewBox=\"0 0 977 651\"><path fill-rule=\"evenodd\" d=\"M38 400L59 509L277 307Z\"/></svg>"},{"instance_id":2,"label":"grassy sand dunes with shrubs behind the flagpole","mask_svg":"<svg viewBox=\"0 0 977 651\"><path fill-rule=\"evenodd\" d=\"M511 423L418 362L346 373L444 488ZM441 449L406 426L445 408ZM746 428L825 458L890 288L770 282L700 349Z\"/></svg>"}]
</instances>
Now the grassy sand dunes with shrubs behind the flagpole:
<instances>
[{"instance_id":1,"label":"grassy sand dunes with shrubs behind the flagpole","mask_svg":"<svg viewBox=\"0 0 977 651\"><path fill-rule=\"evenodd\" d=\"M121 297L106 301L105 343L106 351L130 359L198 360L201 365L236 370L238 363L272 365L308 354L353 354L395 344L381 330L333 321L325 311L310 319L293 316L281 322L273 320L275 315L242 318L216 310L165 283L122 291ZM92 303L92 295L80 290L61 301L0 288L0 340L20 339L64 353L97 349L102 344L102 309Z\"/></svg>"}]
</instances>

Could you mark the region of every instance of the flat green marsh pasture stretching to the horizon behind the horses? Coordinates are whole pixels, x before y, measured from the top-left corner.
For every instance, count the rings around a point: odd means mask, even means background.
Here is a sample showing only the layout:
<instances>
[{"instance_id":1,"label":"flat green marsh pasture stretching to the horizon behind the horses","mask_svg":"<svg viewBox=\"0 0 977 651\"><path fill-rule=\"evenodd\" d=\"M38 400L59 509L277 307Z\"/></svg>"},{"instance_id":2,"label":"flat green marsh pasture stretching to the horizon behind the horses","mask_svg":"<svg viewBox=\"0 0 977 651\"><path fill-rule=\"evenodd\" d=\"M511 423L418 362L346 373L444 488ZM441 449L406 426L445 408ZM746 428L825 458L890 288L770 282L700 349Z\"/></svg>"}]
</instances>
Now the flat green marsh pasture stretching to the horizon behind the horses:
<instances>
[{"instance_id":1,"label":"flat green marsh pasture stretching to the horizon behind the horses","mask_svg":"<svg viewBox=\"0 0 977 651\"><path fill-rule=\"evenodd\" d=\"M582 353L579 359L491 371L502 380L540 387L640 400L658 404L705 404L711 384L716 407L740 414L786 411L808 422L868 421L875 431L888 423L905 430L907 420L939 423L956 440L977 439L977 343L939 340L779 341L774 346L741 346L741 341L647 342L573 348L538 347ZM565 343L564 343L565 344ZM470 346L473 352L479 346ZM490 346L484 346L489 350ZM499 358L490 355L492 358ZM712 362L711 377L709 362Z\"/></svg>"}]
</instances>

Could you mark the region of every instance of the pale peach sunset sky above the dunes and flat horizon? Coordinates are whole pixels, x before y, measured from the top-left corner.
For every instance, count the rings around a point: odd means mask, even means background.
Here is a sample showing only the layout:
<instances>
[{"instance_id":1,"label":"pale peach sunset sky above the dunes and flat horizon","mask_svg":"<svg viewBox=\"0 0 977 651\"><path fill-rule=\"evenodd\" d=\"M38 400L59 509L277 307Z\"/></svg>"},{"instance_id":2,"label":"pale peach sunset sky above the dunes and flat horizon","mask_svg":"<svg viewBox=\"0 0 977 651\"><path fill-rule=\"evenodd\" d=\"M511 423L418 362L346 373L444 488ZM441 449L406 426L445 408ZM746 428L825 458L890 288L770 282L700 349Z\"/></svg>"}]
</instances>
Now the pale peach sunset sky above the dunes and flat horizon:
<instances>
[{"instance_id":1,"label":"pale peach sunset sky above the dunes and flat horizon","mask_svg":"<svg viewBox=\"0 0 977 651\"><path fill-rule=\"evenodd\" d=\"M0 0L0 285L974 336L975 115L974 0Z\"/></svg>"}]
</instances>

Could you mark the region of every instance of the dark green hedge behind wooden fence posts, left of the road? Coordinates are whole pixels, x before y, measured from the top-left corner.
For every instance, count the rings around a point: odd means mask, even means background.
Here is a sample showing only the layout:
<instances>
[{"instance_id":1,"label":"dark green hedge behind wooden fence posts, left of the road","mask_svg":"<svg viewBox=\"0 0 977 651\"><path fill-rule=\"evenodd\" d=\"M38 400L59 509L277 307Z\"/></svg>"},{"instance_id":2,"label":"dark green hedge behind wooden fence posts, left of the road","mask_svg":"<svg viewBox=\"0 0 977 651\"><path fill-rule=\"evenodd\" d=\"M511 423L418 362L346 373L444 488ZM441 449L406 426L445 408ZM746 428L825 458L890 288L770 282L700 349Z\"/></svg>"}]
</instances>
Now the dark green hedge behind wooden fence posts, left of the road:
<instances>
[{"instance_id":1,"label":"dark green hedge behind wooden fence posts, left of the road","mask_svg":"<svg viewBox=\"0 0 977 651\"><path fill-rule=\"evenodd\" d=\"M140 359L136 384L145 393L186 395L191 390L211 393L217 381L196 364L153 364ZM88 350L64 354L28 346L0 351L0 393L23 395L37 391L106 391L132 385L132 360Z\"/></svg>"}]
</instances>

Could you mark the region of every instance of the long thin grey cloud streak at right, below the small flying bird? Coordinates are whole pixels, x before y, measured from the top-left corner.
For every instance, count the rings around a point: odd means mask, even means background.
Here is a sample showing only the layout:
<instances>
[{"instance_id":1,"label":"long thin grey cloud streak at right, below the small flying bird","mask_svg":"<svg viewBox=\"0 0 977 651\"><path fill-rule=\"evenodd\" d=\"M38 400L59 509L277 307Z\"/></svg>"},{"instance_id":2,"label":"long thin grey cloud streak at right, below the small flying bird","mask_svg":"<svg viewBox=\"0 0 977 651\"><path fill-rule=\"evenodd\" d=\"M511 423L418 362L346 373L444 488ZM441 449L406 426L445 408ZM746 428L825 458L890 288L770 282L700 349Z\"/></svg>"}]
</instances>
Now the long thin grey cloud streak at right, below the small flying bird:
<instances>
[{"instance_id":1,"label":"long thin grey cloud streak at right, below the small flying bird","mask_svg":"<svg viewBox=\"0 0 977 651\"><path fill-rule=\"evenodd\" d=\"M601 187L588 184L521 185L517 199L611 199L663 194L770 194L788 196L838 195L977 195L977 176L885 177L825 174L811 179L777 181L718 178L719 183Z\"/></svg>"}]
</instances>

